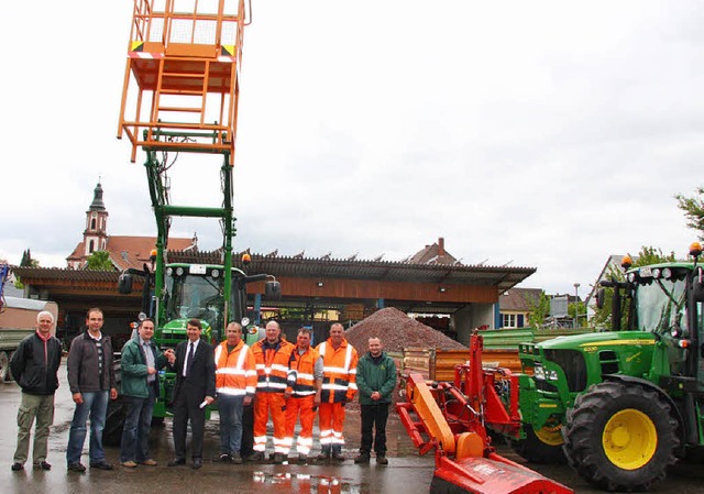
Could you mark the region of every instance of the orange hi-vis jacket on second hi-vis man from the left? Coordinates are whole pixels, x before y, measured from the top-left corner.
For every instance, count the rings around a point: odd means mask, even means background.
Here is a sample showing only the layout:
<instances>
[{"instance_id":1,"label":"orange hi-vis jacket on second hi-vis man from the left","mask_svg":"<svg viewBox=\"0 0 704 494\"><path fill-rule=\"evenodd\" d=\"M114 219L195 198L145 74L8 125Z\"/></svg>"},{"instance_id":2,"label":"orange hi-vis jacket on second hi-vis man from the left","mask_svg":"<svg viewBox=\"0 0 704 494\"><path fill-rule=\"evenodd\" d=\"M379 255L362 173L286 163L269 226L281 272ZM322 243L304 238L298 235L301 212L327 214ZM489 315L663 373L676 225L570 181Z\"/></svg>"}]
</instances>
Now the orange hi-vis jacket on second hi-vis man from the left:
<instances>
[{"instance_id":1,"label":"orange hi-vis jacket on second hi-vis man from the left","mask_svg":"<svg viewBox=\"0 0 704 494\"><path fill-rule=\"evenodd\" d=\"M276 351L267 349L266 340L257 341L252 347L256 364L256 392L284 393L292 392L294 373L289 367L294 345L279 340Z\"/></svg>"}]
</instances>

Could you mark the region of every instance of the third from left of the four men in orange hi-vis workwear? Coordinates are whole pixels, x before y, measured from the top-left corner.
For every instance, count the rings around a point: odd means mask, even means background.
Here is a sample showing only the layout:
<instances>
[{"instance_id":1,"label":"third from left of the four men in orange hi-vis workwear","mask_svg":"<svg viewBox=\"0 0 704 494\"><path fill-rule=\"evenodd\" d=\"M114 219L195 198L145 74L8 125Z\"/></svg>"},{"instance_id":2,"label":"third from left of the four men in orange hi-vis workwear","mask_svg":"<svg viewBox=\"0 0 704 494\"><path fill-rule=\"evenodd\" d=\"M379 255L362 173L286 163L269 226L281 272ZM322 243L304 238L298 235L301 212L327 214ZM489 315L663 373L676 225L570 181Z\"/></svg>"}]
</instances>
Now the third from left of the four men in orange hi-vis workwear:
<instances>
[{"instance_id":1,"label":"third from left of the four men in orange hi-vis workwear","mask_svg":"<svg viewBox=\"0 0 704 494\"><path fill-rule=\"evenodd\" d=\"M296 348L292 353L292 369L295 369L295 384L292 396L286 400L286 443L294 446L294 430L300 414L300 431L296 441L298 463L306 463L312 447L312 422L316 408L320 404L317 389L322 382L322 361L318 351L310 347L311 330L300 328Z\"/></svg>"}]
</instances>

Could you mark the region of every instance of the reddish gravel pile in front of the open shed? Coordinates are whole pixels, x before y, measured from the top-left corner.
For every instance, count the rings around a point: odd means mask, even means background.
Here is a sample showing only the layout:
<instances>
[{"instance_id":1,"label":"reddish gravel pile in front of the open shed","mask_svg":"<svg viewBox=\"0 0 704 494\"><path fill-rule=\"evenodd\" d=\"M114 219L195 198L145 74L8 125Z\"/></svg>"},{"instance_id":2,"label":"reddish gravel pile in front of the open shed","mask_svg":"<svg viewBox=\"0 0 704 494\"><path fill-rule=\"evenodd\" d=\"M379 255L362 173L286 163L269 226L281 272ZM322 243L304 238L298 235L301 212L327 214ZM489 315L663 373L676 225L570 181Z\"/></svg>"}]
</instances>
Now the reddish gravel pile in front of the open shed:
<instances>
[{"instance_id":1,"label":"reddish gravel pile in front of the open shed","mask_svg":"<svg viewBox=\"0 0 704 494\"><path fill-rule=\"evenodd\" d=\"M369 339L372 337L378 337L387 352L400 352L408 347L466 349L462 343L409 318L394 307L377 310L344 332L344 338L352 343L360 356L369 351Z\"/></svg>"}]
</instances>

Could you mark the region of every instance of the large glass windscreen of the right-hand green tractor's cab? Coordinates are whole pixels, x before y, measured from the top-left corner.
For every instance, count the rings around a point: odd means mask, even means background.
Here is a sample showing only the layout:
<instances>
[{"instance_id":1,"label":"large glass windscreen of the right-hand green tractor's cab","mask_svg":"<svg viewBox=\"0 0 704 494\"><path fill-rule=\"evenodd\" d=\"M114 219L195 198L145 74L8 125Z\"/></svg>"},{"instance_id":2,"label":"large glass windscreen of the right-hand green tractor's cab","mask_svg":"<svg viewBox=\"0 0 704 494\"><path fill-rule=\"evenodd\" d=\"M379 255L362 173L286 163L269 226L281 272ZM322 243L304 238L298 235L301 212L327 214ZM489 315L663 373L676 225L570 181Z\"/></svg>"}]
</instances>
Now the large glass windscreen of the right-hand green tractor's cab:
<instances>
[{"instance_id":1,"label":"large glass windscreen of the right-hand green tractor's cab","mask_svg":"<svg viewBox=\"0 0 704 494\"><path fill-rule=\"evenodd\" d=\"M674 325L686 331L684 276L674 279L641 279L636 288L634 329L669 334Z\"/></svg>"}]
</instances>

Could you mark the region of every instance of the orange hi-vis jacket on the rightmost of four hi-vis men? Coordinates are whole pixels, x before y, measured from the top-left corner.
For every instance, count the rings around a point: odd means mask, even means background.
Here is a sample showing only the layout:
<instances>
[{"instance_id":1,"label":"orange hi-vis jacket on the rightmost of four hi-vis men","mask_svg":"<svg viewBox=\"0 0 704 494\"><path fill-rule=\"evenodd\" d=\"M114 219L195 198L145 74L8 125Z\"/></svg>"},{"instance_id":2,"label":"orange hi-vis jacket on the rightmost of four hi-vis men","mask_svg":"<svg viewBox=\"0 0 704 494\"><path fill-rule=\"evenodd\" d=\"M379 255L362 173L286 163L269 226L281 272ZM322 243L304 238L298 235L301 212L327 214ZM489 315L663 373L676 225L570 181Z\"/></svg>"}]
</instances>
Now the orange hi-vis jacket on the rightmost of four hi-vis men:
<instances>
[{"instance_id":1,"label":"orange hi-vis jacket on the rightmost of four hi-vis men","mask_svg":"<svg viewBox=\"0 0 704 494\"><path fill-rule=\"evenodd\" d=\"M356 350L344 338L336 350L328 338L318 345L322 356L321 403L344 403L356 394Z\"/></svg>"}]
</instances>

